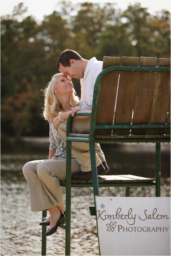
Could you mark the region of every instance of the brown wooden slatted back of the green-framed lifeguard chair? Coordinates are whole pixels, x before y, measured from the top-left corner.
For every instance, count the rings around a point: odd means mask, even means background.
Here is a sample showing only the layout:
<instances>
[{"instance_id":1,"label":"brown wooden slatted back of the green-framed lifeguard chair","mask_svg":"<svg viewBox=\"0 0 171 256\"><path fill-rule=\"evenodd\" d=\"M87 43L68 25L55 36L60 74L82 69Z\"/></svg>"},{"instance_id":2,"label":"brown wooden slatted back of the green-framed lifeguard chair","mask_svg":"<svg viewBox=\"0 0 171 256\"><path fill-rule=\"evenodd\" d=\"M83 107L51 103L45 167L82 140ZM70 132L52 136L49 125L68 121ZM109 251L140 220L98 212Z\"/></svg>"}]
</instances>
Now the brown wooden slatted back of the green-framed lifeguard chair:
<instances>
[{"instance_id":1,"label":"brown wooden slatted back of the green-framed lifeguard chair","mask_svg":"<svg viewBox=\"0 0 171 256\"><path fill-rule=\"evenodd\" d=\"M109 66L170 66L170 59L153 57L106 57ZM97 124L170 123L170 72L115 71L106 74L100 85ZM168 114L169 112L169 114ZM156 135L170 130L102 130L98 135Z\"/></svg>"}]
</instances>

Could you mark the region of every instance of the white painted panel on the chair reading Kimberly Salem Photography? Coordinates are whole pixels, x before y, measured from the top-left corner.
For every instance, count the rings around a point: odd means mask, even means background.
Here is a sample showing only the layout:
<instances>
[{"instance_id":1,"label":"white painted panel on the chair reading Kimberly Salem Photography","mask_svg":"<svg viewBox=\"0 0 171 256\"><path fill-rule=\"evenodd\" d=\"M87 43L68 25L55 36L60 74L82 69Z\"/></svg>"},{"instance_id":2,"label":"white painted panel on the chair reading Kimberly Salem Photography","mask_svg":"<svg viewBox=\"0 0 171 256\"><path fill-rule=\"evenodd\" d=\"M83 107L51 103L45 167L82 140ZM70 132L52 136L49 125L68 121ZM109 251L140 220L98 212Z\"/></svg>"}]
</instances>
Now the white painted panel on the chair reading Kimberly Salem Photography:
<instances>
[{"instance_id":1,"label":"white painted panel on the chair reading Kimberly Salem Photography","mask_svg":"<svg viewBox=\"0 0 171 256\"><path fill-rule=\"evenodd\" d=\"M170 255L170 197L98 197L101 255Z\"/></svg>"}]
</instances>

